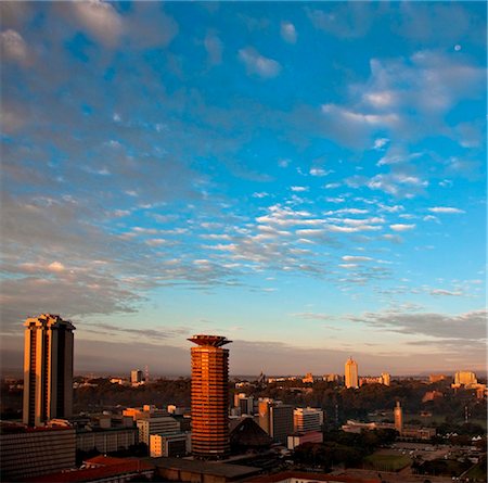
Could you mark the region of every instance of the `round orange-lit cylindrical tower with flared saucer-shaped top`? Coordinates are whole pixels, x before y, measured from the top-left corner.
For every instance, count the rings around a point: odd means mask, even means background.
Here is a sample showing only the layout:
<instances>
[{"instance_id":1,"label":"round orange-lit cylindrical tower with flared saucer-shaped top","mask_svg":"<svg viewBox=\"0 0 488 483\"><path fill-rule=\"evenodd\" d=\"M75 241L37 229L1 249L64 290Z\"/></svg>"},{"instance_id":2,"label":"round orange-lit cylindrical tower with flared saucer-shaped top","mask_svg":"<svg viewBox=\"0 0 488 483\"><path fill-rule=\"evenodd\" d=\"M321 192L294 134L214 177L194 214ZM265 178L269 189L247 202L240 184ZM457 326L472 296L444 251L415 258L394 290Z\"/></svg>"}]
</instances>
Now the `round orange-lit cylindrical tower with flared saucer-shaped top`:
<instances>
[{"instance_id":1,"label":"round orange-lit cylindrical tower with flared saucer-shaped top","mask_svg":"<svg viewBox=\"0 0 488 483\"><path fill-rule=\"evenodd\" d=\"M230 450L229 349L220 335L194 335L192 347L192 453L218 459Z\"/></svg>"}]
</instances>

